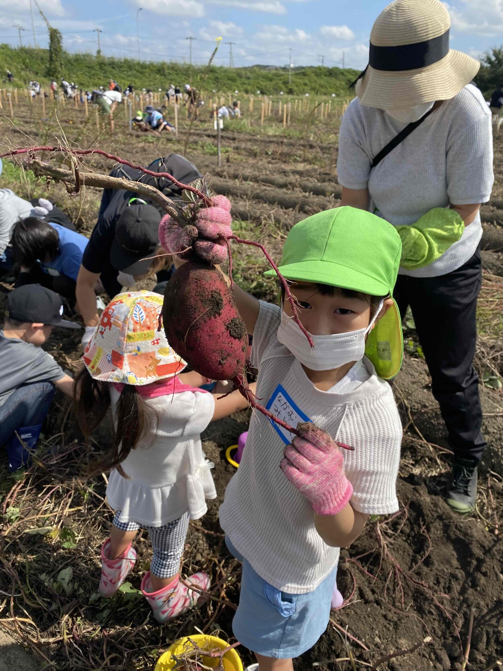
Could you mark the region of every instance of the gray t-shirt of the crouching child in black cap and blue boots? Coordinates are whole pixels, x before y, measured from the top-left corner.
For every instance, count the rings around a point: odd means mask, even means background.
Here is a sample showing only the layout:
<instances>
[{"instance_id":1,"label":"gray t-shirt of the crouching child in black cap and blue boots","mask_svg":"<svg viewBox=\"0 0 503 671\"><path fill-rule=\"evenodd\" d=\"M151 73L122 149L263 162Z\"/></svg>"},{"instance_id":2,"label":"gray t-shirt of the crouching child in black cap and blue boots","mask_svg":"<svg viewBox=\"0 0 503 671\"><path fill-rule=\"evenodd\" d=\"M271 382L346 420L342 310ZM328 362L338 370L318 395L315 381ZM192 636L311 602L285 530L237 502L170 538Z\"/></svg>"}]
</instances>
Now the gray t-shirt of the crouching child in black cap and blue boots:
<instances>
[{"instance_id":1,"label":"gray t-shirt of the crouching child in black cap and blue boots","mask_svg":"<svg viewBox=\"0 0 503 671\"><path fill-rule=\"evenodd\" d=\"M0 405L23 384L56 382L64 372L52 356L19 338L5 338L0 331Z\"/></svg>"}]
</instances>

